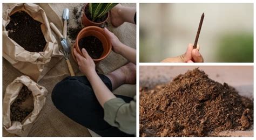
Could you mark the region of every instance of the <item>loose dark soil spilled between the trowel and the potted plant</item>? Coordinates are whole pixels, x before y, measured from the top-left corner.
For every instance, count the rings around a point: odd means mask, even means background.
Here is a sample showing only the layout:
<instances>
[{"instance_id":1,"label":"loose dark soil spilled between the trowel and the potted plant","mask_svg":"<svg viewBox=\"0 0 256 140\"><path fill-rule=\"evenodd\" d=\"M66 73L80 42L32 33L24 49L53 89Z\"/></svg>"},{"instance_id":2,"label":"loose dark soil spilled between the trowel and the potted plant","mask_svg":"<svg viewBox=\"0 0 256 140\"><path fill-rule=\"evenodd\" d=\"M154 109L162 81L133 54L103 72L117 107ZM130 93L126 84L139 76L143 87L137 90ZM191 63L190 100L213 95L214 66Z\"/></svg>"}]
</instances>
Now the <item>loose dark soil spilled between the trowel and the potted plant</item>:
<instances>
[{"instance_id":1,"label":"loose dark soil spilled between the trowel and the potted plant","mask_svg":"<svg viewBox=\"0 0 256 140\"><path fill-rule=\"evenodd\" d=\"M78 10L76 7L72 10L73 17L75 18L75 26L72 27L70 24L68 25L68 37L72 40L72 43L75 42L77 34L83 29L81 23L82 10L82 8Z\"/></svg>"}]
</instances>

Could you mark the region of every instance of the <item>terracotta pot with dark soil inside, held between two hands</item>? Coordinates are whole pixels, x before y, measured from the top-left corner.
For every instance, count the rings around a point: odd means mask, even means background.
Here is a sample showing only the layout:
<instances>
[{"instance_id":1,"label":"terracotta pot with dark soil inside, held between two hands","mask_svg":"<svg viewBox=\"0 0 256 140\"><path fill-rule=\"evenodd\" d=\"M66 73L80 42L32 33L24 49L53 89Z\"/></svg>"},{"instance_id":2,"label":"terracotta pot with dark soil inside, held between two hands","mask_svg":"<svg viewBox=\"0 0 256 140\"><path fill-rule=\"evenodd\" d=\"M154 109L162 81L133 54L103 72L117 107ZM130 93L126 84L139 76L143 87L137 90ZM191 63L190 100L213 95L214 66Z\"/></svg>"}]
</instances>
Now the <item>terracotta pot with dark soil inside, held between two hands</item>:
<instances>
[{"instance_id":1,"label":"terracotta pot with dark soil inside, held between two hands","mask_svg":"<svg viewBox=\"0 0 256 140\"><path fill-rule=\"evenodd\" d=\"M111 41L104 29L97 26L88 26L81 30L73 47L81 55L83 55L82 48L85 48L95 63L105 59L112 49ZM73 49L72 56L76 61Z\"/></svg>"}]
</instances>

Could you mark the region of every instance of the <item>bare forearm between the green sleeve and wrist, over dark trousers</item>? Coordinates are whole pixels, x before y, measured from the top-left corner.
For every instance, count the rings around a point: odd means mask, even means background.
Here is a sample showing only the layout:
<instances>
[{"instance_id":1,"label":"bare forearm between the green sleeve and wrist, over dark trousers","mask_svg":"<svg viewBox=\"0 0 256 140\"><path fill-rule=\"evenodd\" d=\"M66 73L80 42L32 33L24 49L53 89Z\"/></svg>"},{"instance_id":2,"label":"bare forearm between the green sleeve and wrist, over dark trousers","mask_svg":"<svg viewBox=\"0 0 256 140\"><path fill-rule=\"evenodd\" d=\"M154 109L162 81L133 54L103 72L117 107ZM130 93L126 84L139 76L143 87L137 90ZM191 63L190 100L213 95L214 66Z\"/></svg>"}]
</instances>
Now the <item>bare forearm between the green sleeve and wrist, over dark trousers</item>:
<instances>
[{"instance_id":1,"label":"bare forearm between the green sleeve and wrist, over dark trousers","mask_svg":"<svg viewBox=\"0 0 256 140\"><path fill-rule=\"evenodd\" d=\"M102 79L99 78L96 71L91 72L91 74L86 75L87 79L90 81L93 92L95 93L97 100L100 105L104 107L104 103L110 99L115 98L114 94L106 87Z\"/></svg>"}]
</instances>

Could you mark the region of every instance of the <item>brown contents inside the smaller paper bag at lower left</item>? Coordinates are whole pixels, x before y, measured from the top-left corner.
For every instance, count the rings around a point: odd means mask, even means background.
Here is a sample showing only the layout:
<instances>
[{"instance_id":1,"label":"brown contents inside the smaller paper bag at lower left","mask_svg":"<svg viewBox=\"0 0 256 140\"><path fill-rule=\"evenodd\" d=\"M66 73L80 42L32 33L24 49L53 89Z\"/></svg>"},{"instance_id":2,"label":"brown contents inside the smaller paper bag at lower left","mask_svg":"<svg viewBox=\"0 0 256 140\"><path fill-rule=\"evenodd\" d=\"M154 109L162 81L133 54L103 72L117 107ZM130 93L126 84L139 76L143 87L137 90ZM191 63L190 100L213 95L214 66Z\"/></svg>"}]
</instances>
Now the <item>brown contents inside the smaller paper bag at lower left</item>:
<instances>
[{"instance_id":1,"label":"brown contents inside the smaller paper bag at lower left","mask_svg":"<svg viewBox=\"0 0 256 140\"><path fill-rule=\"evenodd\" d=\"M28 100L31 99L33 99L31 91L23 86L18 97L11 104L11 121L22 122L33 111L33 103L30 101L28 104ZM27 103L24 105L24 102Z\"/></svg>"}]
</instances>

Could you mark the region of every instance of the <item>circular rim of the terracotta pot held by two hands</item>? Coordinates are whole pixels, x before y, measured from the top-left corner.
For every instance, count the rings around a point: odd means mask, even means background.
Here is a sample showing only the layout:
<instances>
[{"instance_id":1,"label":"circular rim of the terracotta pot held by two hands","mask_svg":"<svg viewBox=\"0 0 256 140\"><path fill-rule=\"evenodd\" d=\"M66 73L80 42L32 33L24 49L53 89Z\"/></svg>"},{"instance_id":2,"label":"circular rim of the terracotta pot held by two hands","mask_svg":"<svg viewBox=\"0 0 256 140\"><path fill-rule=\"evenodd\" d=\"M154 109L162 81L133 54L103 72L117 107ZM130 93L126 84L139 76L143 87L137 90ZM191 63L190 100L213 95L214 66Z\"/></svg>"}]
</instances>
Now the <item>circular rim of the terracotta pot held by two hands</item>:
<instances>
[{"instance_id":1,"label":"circular rim of the terracotta pot held by two hands","mask_svg":"<svg viewBox=\"0 0 256 140\"><path fill-rule=\"evenodd\" d=\"M80 37L80 34L82 34L82 32L84 32L84 30L88 30L88 29L91 29L91 31L95 31L95 32L99 32L97 30L103 30L104 32L104 29L98 27L98 26L87 26L87 27L84 27L78 34L77 34L77 38L76 38L76 42L74 44L74 47L76 47L76 50L78 51L78 53L80 53L81 55L83 55L82 51L80 50L79 48L79 45L78 45L78 38ZM102 34L101 32L99 32L100 34ZM107 36L107 34L102 34L104 36L104 38L107 40L107 45L110 47L109 51L107 51L106 55L104 55L103 57L100 57L98 59L92 59L93 61L101 61L103 59L105 59L111 52L112 50L112 45L110 43L110 39L109 39L109 36Z\"/></svg>"}]
</instances>

